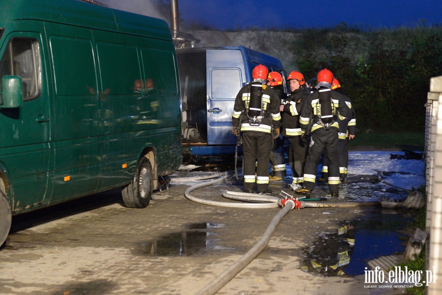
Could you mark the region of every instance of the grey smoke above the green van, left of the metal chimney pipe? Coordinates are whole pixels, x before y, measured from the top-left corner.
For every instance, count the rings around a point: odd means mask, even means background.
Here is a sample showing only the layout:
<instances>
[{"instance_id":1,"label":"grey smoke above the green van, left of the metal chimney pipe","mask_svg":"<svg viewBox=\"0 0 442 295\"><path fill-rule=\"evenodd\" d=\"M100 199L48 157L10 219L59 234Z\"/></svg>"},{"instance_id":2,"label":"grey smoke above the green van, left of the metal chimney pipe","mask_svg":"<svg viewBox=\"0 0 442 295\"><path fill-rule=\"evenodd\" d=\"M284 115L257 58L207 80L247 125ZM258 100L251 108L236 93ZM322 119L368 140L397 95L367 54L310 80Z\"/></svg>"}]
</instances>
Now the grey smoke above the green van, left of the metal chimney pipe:
<instances>
[{"instance_id":1,"label":"grey smoke above the green van, left of the metal chimney pipe","mask_svg":"<svg viewBox=\"0 0 442 295\"><path fill-rule=\"evenodd\" d=\"M170 16L163 15L150 0L98 0L111 8L147 15L170 23Z\"/></svg>"}]
</instances>

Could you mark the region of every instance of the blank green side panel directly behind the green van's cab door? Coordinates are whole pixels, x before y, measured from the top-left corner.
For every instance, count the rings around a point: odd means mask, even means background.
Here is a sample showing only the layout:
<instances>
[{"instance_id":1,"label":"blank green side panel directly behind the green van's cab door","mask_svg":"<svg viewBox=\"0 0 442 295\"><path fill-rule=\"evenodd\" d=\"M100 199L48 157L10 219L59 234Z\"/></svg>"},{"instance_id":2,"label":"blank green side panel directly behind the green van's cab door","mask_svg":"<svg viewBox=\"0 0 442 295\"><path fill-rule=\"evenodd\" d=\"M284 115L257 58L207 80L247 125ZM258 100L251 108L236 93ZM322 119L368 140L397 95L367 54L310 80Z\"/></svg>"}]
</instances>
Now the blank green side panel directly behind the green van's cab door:
<instances>
[{"instance_id":1,"label":"blank green side panel directly behind the green van's cab door","mask_svg":"<svg viewBox=\"0 0 442 295\"><path fill-rule=\"evenodd\" d=\"M89 40L51 37L57 95L96 95L92 44Z\"/></svg>"}]
</instances>

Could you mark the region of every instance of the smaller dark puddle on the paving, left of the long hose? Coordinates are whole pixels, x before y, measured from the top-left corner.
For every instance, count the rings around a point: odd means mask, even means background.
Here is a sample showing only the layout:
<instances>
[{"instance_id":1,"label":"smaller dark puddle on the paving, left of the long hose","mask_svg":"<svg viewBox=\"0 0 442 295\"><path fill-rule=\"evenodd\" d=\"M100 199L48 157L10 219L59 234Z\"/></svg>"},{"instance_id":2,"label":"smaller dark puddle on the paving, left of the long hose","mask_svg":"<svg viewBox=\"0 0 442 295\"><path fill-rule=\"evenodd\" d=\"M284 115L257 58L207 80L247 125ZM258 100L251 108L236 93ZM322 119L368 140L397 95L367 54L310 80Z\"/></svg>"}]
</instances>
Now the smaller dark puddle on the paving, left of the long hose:
<instances>
[{"instance_id":1,"label":"smaller dark puddle on the paving, left of the long hose","mask_svg":"<svg viewBox=\"0 0 442 295\"><path fill-rule=\"evenodd\" d=\"M217 250L233 250L218 244L220 223L194 223L188 231L172 233L157 240L138 244L137 254L148 256L202 255Z\"/></svg>"}]
</instances>

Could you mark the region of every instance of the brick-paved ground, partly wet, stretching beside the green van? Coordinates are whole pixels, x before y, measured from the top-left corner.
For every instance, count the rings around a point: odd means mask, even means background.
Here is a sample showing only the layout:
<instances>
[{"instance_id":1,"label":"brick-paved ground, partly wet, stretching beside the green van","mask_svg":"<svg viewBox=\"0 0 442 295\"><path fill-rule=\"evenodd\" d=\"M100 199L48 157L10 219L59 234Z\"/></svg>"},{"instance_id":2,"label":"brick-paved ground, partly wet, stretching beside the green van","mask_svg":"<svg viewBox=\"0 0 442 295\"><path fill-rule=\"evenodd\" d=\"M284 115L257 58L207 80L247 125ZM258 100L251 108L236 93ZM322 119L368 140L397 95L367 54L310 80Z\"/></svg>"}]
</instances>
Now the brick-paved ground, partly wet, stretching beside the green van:
<instances>
[{"instance_id":1,"label":"brick-paved ground, partly wet, stretching beside the green van","mask_svg":"<svg viewBox=\"0 0 442 295\"><path fill-rule=\"evenodd\" d=\"M279 184L273 185L277 191ZM195 294L259 240L280 208L201 205L184 197L188 188L172 182L144 209L121 206L114 189L14 217L0 251L0 294ZM221 193L241 189L233 181L192 193L231 202ZM290 211L264 251L217 294L393 294L364 288L363 275L321 277L301 270L301 249L369 210Z\"/></svg>"}]
</instances>

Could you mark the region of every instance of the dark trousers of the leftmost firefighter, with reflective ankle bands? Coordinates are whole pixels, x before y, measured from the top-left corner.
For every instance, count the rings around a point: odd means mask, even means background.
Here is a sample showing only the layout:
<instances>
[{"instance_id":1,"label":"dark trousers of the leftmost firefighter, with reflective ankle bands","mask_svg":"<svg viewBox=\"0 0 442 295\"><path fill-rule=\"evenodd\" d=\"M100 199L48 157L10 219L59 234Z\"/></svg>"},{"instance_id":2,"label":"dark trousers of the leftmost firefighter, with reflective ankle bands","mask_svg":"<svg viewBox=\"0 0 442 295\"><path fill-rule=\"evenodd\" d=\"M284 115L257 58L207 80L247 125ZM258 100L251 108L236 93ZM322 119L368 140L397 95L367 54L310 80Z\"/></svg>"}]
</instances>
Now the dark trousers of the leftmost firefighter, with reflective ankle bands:
<instances>
[{"instance_id":1,"label":"dark trousers of the leftmost firefighter, with reflective ankle bands","mask_svg":"<svg viewBox=\"0 0 442 295\"><path fill-rule=\"evenodd\" d=\"M270 133L243 132L244 188L259 192L269 191L269 161L273 139ZM256 164L256 165L255 165ZM255 177L256 166L256 177Z\"/></svg>"}]
</instances>

